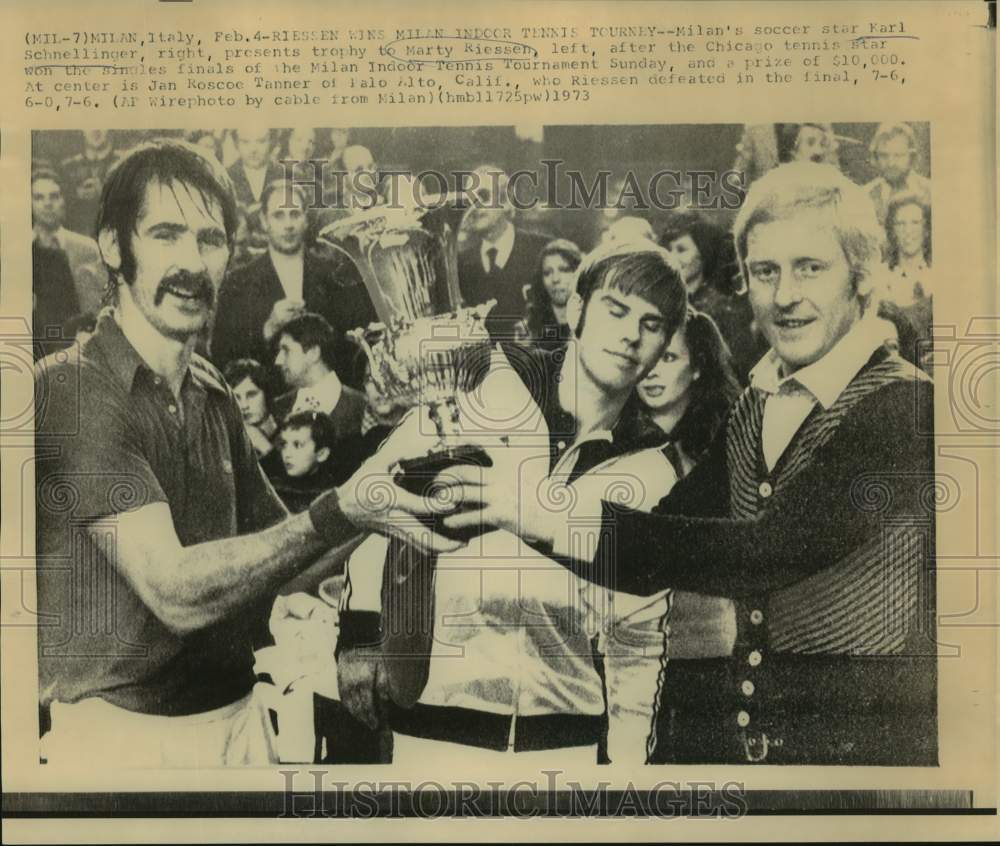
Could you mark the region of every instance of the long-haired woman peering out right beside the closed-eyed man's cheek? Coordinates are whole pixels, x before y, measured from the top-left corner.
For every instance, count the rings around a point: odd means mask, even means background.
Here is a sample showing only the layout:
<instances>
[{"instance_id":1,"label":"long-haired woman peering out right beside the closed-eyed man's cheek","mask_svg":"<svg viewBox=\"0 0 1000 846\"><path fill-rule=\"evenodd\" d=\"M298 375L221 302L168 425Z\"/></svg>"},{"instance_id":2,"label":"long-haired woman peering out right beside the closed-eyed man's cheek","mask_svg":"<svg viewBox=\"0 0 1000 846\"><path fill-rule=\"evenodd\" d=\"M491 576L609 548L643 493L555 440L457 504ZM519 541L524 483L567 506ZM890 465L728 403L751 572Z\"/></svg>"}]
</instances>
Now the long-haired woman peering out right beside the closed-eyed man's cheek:
<instances>
[{"instance_id":1,"label":"long-haired woman peering out right beside the closed-eyed man's cheek","mask_svg":"<svg viewBox=\"0 0 1000 846\"><path fill-rule=\"evenodd\" d=\"M701 460L739 396L730 358L712 318L689 308L663 358L639 383L639 399L670 438L664 453L678 477Z\"/></svg>"}]
</instances>

